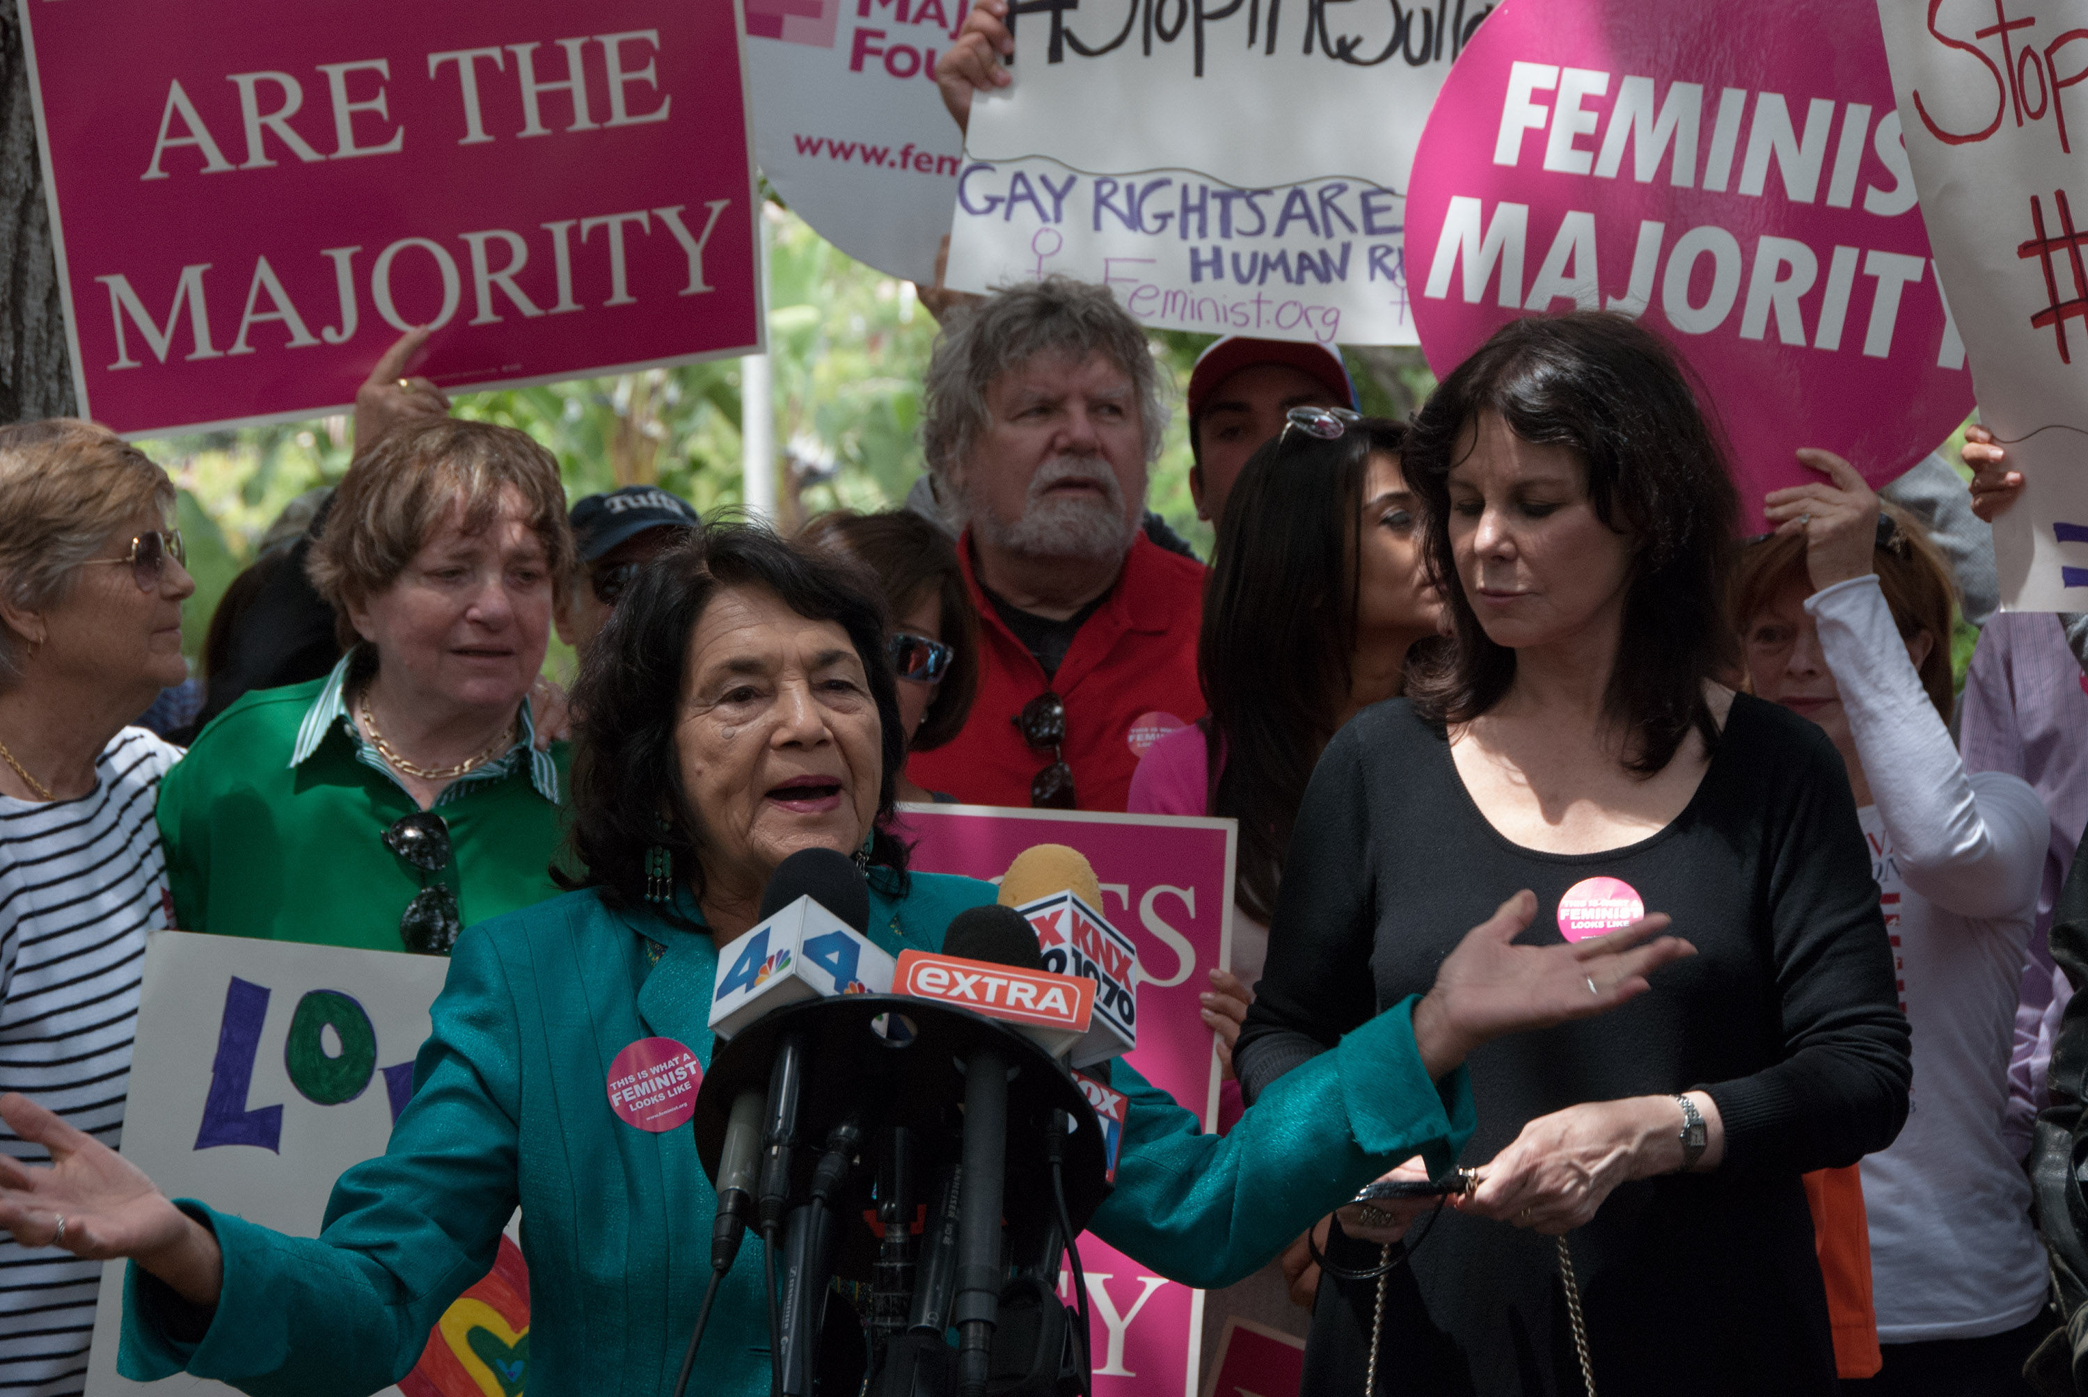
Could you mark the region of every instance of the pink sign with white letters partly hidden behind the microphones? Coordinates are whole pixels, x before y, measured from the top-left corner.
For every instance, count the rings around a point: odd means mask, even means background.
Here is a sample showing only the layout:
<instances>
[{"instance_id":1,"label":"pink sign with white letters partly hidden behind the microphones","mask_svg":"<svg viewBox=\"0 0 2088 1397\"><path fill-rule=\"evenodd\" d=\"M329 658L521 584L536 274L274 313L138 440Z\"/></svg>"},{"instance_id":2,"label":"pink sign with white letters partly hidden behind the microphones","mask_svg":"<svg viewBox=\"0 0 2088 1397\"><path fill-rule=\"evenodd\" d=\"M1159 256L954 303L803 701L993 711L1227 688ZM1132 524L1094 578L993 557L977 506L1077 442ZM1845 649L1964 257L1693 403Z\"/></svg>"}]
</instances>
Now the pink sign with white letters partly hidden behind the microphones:
<instances>
[{"instance_id":1,"label":"pink sign with white letters partly hidden behind the microphones","mask_svg":"<svg viewBox=\"0 0 2088 1397\"><path fill-rule=\"evenodd\" d=\"M1230 965L1234 831L1217 819L904 806L900 833L917 871L983 879L1036 844L1079 850L1102 885L1096 910L1138 948L1138 1048L1125 1061L1215 1130L1217 1052L1196 996L1213 967ZM1079 1257L1096 1397L1196 1397L1203 1291L1153 1276L1094 1236L1079 1238Z\"/></svg>"}]
</instances>

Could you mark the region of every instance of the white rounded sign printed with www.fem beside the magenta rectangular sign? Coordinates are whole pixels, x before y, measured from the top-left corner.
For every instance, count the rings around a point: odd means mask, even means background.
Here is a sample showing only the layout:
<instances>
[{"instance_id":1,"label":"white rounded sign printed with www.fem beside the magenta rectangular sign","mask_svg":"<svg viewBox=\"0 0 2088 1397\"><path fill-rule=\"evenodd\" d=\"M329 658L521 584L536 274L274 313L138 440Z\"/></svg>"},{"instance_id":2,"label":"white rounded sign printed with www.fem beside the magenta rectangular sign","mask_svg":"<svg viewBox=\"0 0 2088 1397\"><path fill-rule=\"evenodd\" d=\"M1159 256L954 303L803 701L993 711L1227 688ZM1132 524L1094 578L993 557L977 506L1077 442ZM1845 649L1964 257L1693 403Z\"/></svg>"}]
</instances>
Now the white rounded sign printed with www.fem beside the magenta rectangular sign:
<instances>
[{"instance_id":1,"label":"white rounded sign printed with www.fem beside the magenta rectangular sign","mask_svg":"<svg viewBox=\"0 0 2088 1397\"><path fill-rule=\"evenodd\" d=\"M856 261L935 280L965 142L935 54L969 0L748 0L754 155L798 217Z\"/></svg>"}]
</instances>

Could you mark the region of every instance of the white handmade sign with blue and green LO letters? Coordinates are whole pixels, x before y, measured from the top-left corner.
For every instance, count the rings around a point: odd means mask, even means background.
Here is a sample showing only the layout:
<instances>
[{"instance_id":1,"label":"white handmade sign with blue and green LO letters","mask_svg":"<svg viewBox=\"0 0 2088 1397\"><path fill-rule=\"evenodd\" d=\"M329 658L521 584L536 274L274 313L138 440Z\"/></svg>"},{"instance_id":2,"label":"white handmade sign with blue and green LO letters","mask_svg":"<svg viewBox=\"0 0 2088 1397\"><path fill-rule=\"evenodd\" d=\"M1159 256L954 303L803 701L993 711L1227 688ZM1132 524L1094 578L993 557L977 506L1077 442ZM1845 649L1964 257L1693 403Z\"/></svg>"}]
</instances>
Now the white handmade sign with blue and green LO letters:
<instances>
[{"instance_id":1,"label":"white handmade sign with blue and green LO letters","mask_svg":"<svg viewBox=\"0 0 2088 1397\"><path fill-rule=\"evenodd\" d=\"M428 1007L447 971L434 956L152 933L123 1157L167 1197L317 1236L334 1180L384 1153L393 1119L413 1094L413 1055L428 1038ZM501 1268L445 1316L441 1330L447 1339L455 1328L455 1341L441 1353L430 1347L386 1397L401 1389L405 1397L501 1391L487 1364L528 1334L526 1282L512 1284L520 1257L507 1255L512 1242L501 1251ZM102 1268L88 1391L230 1397L230 1387L200 1378L117 1376L123 1270ZM451 1324L451 1316L468 1324Z\"/></svg>"}]
</instances>

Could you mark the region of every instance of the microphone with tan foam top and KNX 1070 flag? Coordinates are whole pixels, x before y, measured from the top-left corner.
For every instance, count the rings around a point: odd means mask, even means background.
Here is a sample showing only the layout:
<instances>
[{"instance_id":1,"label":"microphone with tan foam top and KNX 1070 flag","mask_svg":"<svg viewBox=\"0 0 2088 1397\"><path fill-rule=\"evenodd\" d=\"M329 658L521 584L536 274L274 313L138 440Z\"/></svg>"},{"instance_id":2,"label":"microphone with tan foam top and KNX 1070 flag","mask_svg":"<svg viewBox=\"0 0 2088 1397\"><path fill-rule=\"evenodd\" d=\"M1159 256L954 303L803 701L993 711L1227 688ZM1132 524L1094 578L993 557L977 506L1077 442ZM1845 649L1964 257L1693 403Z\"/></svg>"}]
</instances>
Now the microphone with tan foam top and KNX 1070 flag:
<instances>
[{"instance_id":1,"label":"microphone with tan foam top and KNX 1070 flag","mask_svg":"<svg viewBox=\"0 0 2088 1397\"><path fill-rule=\"evenodd\" d=\"M1044 969L1094 981L1094 1019L1073 1044L1073 1067L1092 1067L1138 1046L1138 946L1102 917L1094 867L1063 844L1015 856L1000 879L1000 906L1034 927Z\"/></svg>"}]
</instances>

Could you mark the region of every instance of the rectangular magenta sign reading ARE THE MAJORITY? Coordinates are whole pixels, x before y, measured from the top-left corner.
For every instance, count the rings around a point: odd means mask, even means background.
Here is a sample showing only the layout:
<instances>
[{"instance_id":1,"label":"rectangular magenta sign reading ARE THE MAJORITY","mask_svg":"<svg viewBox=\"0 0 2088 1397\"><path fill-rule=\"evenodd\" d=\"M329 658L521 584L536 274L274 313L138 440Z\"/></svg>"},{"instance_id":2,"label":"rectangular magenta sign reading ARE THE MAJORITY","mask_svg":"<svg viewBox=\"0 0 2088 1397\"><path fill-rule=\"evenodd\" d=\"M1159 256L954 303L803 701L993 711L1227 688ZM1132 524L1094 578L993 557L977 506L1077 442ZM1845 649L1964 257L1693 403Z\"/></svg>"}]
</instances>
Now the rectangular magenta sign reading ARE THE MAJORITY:
<instances>
[{"instance_id":1,"label":"rectangular magenta sign reading ARE THE MAJORITY","mask_svg":"<svg viewBox=\"0 0 2088 1397\"><path fill-rule=\"evenodd\" d=\"M79 411L125 434L758 347L733 0L27 0Z\"/></svg>"}]
</instances>

